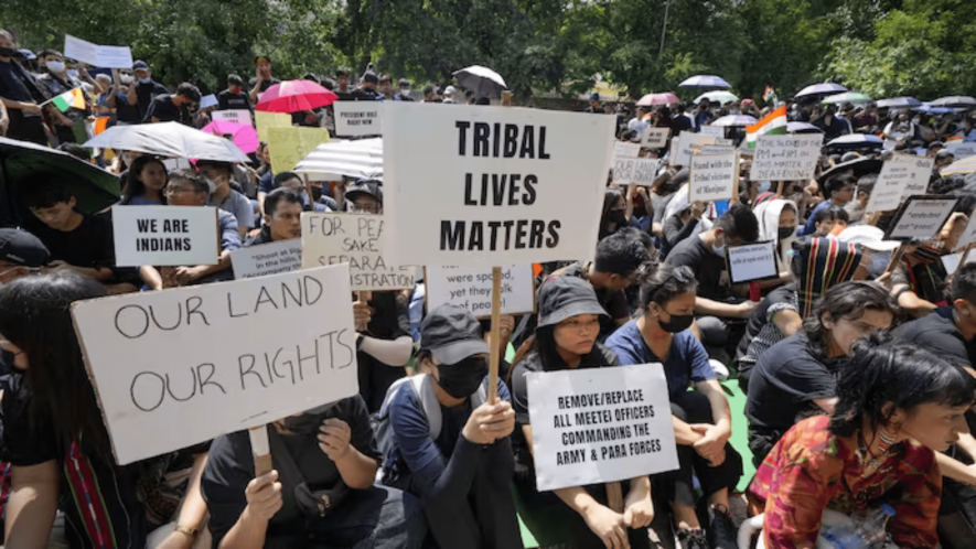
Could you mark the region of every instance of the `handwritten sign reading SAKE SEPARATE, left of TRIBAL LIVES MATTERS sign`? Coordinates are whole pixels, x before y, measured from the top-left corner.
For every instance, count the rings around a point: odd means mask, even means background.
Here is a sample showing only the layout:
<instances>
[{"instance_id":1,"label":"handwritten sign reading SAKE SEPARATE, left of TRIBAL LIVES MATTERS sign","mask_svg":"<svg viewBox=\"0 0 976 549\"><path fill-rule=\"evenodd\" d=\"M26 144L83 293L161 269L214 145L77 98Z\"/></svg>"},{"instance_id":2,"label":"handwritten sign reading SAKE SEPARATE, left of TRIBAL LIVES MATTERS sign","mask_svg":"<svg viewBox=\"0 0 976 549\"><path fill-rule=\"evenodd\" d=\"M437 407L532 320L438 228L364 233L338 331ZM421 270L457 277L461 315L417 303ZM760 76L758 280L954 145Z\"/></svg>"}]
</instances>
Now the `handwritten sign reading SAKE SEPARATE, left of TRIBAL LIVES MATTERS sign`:
<instances>
[{"instance_id":1,"label":"handwritten sign reading SAKE SEPARATE, left of TRIBAL LIVES MATTERS sign","mask_svg":"<svg viewBox=\"0 0 976 549\"><path fill-rule=\"evenodd\" d=\"M350 287L360 290L412 289L416 269L388 259L382 215L301 215L302 268L348 263Z\"/></svg>"}]
</instances>

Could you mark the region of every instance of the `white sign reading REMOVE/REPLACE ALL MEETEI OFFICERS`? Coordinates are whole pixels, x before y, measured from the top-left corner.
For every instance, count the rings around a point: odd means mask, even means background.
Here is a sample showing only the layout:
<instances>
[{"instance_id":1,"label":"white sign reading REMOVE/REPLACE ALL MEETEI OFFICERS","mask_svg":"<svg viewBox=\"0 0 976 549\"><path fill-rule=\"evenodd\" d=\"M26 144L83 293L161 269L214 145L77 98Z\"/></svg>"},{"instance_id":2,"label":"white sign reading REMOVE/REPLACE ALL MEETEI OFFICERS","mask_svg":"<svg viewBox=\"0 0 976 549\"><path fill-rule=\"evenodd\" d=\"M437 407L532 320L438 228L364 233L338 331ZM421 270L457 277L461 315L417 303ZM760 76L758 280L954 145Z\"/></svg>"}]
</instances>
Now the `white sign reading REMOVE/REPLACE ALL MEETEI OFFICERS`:
<instances>
[{"instance_id":1,"label":"white sign reading REMOVE/REPLACE ALL MEETEI OFFICERS","mask_svg":"<svg viewBox=\"0 0 976 549\"><path fill-rule=\"evenodd\" d=\"M678 469L661 364L528 374L539 492Z\"/></svg>"}]
</instances>

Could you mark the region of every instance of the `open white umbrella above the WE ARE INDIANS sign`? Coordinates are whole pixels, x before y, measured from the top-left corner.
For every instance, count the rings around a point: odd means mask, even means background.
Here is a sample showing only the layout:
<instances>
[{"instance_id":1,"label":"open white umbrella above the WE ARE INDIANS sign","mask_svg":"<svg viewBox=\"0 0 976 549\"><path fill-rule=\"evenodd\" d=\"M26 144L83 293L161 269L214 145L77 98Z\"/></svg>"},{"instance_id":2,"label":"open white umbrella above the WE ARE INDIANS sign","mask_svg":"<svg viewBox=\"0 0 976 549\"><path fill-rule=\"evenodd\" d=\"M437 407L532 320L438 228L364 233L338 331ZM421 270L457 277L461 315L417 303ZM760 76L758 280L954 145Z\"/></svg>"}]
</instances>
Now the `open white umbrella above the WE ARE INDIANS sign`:
<instances>
[{"instance_id":1,"label":"open white umbrella above the WE ARE INDIANS sign","mask_svg":"<svg viewBox=\"0 0 976 549\"><path fill-rule=\"evenodd\" d=\"M138 151L160 157L250 162L229 139L206 133L179 122L114 126L83 147Z\"/></svg>"}]
</instances>

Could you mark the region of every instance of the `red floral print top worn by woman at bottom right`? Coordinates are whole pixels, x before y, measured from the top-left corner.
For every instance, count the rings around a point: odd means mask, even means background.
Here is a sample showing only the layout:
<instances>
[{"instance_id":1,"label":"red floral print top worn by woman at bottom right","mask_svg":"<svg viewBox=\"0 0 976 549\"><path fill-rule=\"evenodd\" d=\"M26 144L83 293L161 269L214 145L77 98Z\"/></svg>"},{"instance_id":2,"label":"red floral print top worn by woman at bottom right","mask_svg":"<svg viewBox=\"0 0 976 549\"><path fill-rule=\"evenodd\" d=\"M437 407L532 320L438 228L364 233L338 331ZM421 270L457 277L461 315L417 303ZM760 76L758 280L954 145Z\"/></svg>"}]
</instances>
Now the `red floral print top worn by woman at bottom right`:
<instances>
[{"instance_id":1,"label":"red floral print top worn by woman at bottom right","mask_svg":"<svg viewBox=\"0 0 976 549\"><path fill-rule=\"evenodd\" d=\"M865 478L857 437L834 435L828 423L817 416L793 426L749 485L749 497L765 509L765 546L813 548L824 509L851 515L888 503L897 510L888 531L899 547L934 548L942 494L935 453L911 442L895 444Z\"/></svg>"}]
</instances>

